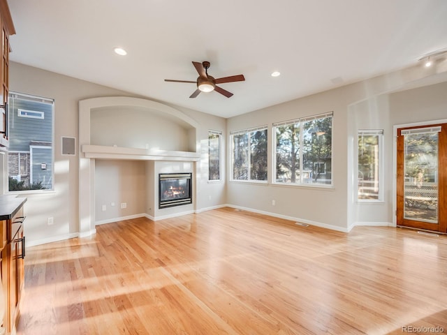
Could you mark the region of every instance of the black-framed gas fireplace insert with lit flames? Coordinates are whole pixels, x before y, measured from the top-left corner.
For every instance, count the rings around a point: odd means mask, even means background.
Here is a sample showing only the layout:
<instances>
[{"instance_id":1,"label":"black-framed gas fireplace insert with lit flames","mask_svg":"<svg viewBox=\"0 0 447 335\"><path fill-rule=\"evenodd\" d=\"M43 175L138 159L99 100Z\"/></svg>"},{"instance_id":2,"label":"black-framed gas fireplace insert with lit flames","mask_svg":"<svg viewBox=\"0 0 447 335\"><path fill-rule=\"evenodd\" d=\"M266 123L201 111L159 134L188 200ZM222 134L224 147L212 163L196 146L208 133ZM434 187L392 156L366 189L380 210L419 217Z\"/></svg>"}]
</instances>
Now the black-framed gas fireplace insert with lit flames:
<instances>
[{"instance_id":1,"label":"black-framed gas fireplace insert with lit flames","mask_svg":"<svg viewBox=\"0 0 447 335\"><path fill-rule=\"evenodd\" d=\"M159 174L159 209L191 204L191 173Z\"/></svg>"}]
</instances>

